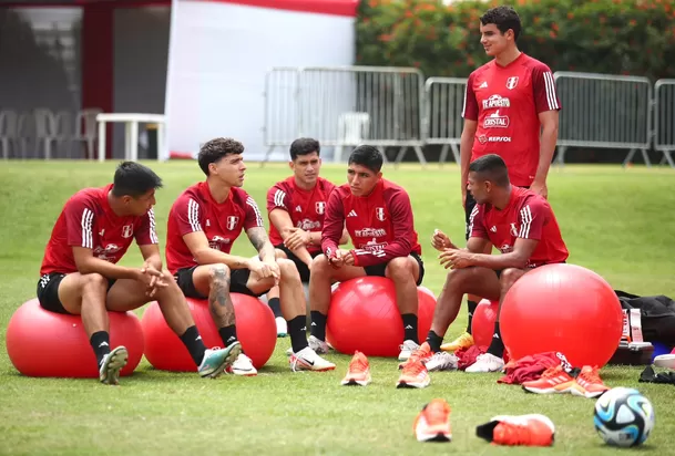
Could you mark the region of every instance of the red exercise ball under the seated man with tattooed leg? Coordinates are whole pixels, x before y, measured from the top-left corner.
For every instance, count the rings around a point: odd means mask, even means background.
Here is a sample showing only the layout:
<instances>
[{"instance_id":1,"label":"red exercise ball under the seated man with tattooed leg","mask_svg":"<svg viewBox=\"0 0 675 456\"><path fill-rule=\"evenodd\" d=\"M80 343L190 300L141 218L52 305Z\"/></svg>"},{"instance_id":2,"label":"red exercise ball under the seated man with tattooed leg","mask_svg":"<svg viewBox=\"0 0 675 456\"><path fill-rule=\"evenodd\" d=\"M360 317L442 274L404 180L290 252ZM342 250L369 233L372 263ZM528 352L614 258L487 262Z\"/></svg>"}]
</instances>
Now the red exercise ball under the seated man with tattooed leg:
<instances>
[{"instance_id":1,"label":"red exercise ball under the seated man with tattooed leg","mask_svg":"<svg viewBox=\"0 0 675 456\"><path fill-rule=\"evenodd\" d=\"M253 365L260 369L272 356L277 341L274 313L269 305L257 298L241 293L229 296L235 310L237 339ZM186 301L206 348L223 346L223 340L208 311L208 301L192 298L186 298ZM141 325L145 336L145 357L150 364L163 371L197 371L190 352L168 328L156 302L147 307Z\"/></svg>"}]
</instances>

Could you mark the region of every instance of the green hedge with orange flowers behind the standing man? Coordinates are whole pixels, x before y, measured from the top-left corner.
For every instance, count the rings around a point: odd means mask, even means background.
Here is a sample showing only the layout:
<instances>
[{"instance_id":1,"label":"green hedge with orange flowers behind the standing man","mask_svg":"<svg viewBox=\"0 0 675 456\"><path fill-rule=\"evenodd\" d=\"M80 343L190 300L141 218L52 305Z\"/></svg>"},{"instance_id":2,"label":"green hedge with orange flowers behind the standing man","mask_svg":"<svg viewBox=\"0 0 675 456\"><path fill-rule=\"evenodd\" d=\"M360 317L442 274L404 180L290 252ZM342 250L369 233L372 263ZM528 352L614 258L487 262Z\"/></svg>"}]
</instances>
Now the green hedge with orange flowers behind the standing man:
<instances>
[{"instance_id":1,"label":"green hedge with orange flowers behind the standing man","mask_svg":"<svg viewBox=\"0 0 675 456\"><path fill-rule=\"evenodd\" d=\"M512 4L519 48L553 71L675 77L675 0L361 0L357 63L468 76L488 61L479 18Z\"/></svg>"}]
</instances>

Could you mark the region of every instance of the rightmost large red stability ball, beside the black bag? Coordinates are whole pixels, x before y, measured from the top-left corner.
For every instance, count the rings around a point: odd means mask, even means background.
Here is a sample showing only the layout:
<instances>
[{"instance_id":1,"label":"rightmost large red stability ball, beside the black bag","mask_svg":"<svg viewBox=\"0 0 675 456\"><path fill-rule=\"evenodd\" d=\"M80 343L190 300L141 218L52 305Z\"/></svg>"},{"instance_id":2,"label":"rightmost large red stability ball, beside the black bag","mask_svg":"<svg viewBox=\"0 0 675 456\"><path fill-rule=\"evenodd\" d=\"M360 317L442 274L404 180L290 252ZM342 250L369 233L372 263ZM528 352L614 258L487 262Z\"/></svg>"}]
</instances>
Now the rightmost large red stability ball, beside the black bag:
<instances>
[{"instance_id":1,"label":"rightmost large red stability ball, beside the black bag","mask_svg":"<svg viewBox=\"0 0 675 456\"><path fill-rule=\"evenodd\" d=\"M623 329L621 303L597 273L574 265L536 268L507 292L500 330L512 359L559 351L572 365L602 367Z\"/></svg>"}]
</instances>

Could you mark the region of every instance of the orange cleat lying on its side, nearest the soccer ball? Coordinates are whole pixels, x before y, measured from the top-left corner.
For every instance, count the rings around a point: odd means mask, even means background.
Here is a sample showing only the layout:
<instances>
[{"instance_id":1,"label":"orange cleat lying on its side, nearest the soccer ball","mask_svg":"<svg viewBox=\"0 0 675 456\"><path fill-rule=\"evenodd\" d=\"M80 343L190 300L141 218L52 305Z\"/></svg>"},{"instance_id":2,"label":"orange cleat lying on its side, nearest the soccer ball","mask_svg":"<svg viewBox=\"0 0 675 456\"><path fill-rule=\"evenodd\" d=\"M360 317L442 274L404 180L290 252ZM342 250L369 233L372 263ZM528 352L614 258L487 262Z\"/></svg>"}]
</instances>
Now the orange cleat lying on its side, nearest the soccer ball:
<instances>
[{"instance_id":1,"label":"orange cleat lying on its side, nearest the soccer ball","mask_svg":"<svg viewBox=\"0 0 675 456\"><path fill-rule=\"evenodd\" d=\"M495 445L551 446L555 426L544 415L495 416L475 428L475 435Z\"/></svg>"}]
</instances>

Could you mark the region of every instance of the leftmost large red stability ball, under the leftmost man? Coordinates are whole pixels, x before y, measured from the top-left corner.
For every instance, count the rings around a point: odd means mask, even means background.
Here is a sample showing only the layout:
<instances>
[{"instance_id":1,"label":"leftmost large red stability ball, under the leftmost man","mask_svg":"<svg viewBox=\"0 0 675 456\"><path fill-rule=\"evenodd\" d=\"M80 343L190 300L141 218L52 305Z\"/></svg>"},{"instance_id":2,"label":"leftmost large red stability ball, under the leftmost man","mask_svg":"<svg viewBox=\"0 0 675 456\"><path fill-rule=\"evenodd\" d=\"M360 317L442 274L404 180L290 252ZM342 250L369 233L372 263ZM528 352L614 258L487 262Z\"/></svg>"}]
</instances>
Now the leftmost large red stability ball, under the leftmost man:
<instances>
[{"instance_id":1,"label":"leftmost large red stability ball, under the leftmost man","mask_svg":"<svg viewBox=\"0 0 675 456\"><path fill-rule=\"evenodd\" d=\"M129 351L120 375L131 375L143 357L143 332L132 312L108 312L110 345ZM29 376L98 379L96 355L80 315L47 311L37 299L23 303L7 327L7 351L17 371Z\"/></svg>"}]
</instances>

